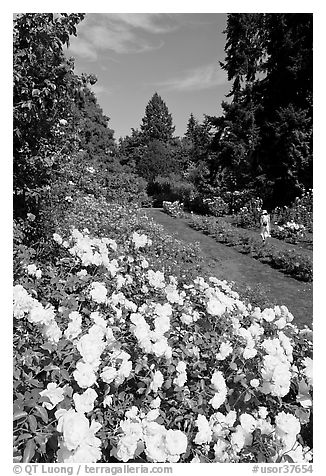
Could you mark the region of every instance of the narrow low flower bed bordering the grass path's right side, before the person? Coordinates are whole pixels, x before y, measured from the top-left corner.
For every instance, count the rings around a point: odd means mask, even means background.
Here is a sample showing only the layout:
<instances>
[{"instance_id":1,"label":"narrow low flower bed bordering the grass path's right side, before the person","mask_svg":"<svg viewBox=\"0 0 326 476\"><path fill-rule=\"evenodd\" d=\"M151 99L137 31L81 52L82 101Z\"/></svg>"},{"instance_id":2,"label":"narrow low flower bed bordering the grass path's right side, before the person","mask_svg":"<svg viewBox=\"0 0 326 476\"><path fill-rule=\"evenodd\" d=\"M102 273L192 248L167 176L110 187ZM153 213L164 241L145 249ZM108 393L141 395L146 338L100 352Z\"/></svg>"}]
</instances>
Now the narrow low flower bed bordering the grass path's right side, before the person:
<instances>
[{"instance_id":1,"label":"narrow low flower bed bordering the grass path's right side, before the person","mask_svg":"<svg viewBox=\"0 0 326 476\"><path fill-rule=\"evenodd\" d=\"M189 226L213 236L220 243L228 243L241 253L250 253L300 281L312 281L312 258L295 249L279 251L270 243L262 246L260 238L254 238L246 230L235 229L226 221L214 217L189 215Z\"/></svg>"}]
</instances>

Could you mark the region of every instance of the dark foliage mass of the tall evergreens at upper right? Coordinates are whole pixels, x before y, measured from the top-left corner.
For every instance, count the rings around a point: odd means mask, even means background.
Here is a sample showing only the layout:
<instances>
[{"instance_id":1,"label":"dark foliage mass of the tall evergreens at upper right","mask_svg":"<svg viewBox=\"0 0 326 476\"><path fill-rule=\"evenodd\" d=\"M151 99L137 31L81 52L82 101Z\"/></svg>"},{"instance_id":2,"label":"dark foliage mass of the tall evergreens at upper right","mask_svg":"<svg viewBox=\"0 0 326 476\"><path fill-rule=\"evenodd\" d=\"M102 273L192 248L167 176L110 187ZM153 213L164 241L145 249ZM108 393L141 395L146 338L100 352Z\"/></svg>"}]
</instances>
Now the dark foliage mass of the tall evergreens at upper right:
<instances>
[{"instance_id":1,"label":"dark foliage mass of the tall evergreens at upper right","mask_svg":"<svg viewBox=\"0 0 326 476\"><path fill-rule=\"evenodd\" d=\"M230 14L226 34L232 100L210 118L211 180L287 205L312 186L312 15Z\"/></svg>"}]
</instances>

